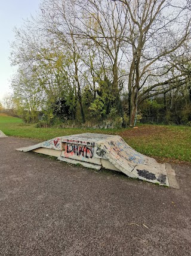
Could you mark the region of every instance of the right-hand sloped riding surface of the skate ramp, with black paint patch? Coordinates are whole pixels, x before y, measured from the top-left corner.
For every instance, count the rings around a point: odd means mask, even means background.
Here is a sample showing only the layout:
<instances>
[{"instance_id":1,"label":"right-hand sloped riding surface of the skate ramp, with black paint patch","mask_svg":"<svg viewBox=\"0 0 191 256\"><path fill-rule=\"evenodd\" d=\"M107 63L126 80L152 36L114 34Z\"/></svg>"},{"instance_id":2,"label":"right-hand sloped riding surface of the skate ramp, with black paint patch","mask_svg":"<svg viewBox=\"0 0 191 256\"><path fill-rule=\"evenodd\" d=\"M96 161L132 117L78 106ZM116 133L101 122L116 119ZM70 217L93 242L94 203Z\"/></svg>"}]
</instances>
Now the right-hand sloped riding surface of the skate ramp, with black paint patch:
<instances>
[{"instance_id":1,"label":"right-hand sloped riding surface of the skate ramp, with black paint patch","mask_svg":"<svg viewBox=\"0 0 191 256\"><path fill-rule=\"evenodd\" d=\"M119 136L100 143L96 153L99 155L100 152L129 177L169 185L165 164L138 153Z\"/></svg>"}]
</instances>

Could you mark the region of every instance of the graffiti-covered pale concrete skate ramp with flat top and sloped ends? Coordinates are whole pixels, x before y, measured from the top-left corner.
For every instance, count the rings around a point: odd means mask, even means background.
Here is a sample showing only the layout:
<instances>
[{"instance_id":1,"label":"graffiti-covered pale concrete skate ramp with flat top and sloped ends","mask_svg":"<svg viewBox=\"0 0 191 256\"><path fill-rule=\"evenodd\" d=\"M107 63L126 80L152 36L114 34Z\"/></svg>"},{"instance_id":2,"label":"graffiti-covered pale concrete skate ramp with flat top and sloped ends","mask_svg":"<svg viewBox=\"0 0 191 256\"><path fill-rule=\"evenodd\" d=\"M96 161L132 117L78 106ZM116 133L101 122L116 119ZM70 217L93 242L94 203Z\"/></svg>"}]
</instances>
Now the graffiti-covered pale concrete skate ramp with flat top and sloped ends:
<instances>
[{"instance_id":1,"label":"graffiti-covered pale concrete skate ramp with flat top and sloped ends","mask_svg":"<svg viewBox=\"0 0 191 256\"><path fill-rule=\"evenodd\" d=\"M170 165L159 164L155 159L138 153L118 135L93 133L69 135L17 150L24 152L32 150L57 156L60 161L81 164L97 170L107 168L122 171L132 178L171 186L167 174L168 167L172 177L170 180L175 180L175 173ZM177 186L177 183L174 183L175 185L172 186Z\"/></svg>"}]
</instances>

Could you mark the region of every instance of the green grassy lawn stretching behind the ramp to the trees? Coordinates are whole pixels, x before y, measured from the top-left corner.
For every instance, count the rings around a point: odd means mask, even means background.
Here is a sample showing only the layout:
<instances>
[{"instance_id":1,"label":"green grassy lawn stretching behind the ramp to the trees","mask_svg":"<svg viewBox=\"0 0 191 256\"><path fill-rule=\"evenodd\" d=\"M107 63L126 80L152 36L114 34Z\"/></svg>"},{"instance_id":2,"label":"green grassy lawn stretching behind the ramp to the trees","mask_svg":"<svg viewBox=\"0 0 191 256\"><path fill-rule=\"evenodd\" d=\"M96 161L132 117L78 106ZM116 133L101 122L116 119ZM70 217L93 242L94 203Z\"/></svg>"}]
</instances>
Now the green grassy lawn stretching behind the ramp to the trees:
<instances>
[{"instance_id":1,"label":"green grassy lawn stretching behind the ramp to the trees","mask_svg":"<svg viewBox=\"0 0 191 256\"><path fill-rule=\"evenodd\" d=\"M35 138L39 141L50 138L96 132L120 135L135 150L152 156L158 161L186 162L191 164L191 127L166 125L138 125L137 129L79 129L36 128L23 124L21 119L0 114L0 129L6 135Z\"/></svg>"}]
</instances>

